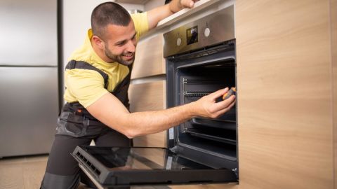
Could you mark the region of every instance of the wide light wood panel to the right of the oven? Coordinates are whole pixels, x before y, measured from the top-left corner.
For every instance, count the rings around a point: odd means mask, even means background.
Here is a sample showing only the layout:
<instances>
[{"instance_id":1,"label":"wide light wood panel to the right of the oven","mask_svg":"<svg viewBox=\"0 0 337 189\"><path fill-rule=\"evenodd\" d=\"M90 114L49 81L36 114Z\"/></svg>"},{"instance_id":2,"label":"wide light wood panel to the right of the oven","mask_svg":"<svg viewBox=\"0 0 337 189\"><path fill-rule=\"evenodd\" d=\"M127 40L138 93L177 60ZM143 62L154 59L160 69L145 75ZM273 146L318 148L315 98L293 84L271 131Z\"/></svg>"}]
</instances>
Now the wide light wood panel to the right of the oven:
<instances>
[{"instance_id":1,"label":"wide light wood panel to the right of the oven","mask_svg":"<svg viewBox=\"0 0 337 189\"><path fill-rule=\"evenodd\" d=\"M329 1L236 1L239 188L333 188Z\"/></svg>"}]
</instances>

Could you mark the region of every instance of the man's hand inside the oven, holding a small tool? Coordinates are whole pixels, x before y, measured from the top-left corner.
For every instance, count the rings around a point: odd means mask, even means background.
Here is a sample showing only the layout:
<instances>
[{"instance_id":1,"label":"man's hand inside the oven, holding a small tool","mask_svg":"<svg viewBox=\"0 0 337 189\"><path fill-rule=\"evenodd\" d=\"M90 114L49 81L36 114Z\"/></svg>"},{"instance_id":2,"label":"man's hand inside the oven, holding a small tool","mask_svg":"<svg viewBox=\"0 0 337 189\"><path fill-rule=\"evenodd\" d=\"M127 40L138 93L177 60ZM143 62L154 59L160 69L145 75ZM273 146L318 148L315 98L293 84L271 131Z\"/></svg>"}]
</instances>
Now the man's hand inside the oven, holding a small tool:
<instances>
[{"instance_id":1,"label":"man's hand inside the oven, holding a small tool","mask_svg":"<svg viewBox=\"0 0 337 189\"><path fill-rule=\"evenodd\" d=\"M222 97L227 91L228 88L218 90L193 102L195 113L205 118L218 118L223 113L229 111L235 104L234 95L223 101L216 102L216 99Z\"/></svg>"}]
</instances>

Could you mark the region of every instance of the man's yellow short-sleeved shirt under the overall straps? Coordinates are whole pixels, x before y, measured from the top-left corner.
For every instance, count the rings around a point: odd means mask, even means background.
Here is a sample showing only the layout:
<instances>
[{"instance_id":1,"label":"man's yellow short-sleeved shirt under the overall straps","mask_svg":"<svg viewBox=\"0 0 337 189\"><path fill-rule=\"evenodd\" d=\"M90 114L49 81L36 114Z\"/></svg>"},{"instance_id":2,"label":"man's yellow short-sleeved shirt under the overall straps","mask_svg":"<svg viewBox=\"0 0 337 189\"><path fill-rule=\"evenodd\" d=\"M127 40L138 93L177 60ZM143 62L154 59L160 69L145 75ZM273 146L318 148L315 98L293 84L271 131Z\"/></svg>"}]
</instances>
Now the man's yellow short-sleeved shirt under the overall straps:
<instances>
[{"instance_id":1,"label":"man's yellow short-sleeved shirt under the overall straps","mask_svg":"<svg viewBox=\"0 0 337 189\"><path fill-rule=\"evenodd\" d=\"M147 13L131 15L136 29L136 40L148 30ZM65 70L65 94L66 102L79 102L84 108L90 106L107 92L113 92L114 88L128 75L128 66L117 62L107 63L95 53L91 46L93 32L88 30L86 40L81 48L75 50L70 60L84 61L104 71L109 76L107 89L104 88L104 79L97 71L88 69Z\"/></svg>"}]
</instances>

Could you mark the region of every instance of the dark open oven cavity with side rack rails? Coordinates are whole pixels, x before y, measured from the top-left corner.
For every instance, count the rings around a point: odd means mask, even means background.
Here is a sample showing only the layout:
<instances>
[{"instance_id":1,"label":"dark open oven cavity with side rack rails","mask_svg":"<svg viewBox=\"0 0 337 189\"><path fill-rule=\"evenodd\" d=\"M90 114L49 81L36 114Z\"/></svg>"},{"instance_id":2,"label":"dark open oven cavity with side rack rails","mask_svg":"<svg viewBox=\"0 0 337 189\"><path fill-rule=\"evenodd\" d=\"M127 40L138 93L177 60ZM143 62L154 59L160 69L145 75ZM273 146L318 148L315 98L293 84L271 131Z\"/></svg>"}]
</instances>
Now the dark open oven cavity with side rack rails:
<instances>
[{"instance_id":1,"label":"dark open oven cavity with side rack rails","mask_svg":"<svg viewBox=\"0 0 337 189\"><path fill-rule=\"evenodd\" d=\"M225 87L235 87L235 60L202 62L180 66L178 76L178 105L197 101L205 95ZM222 97L217 102L222 101ZM237 158L236 106L216 119L192 118L179 127L181 145L193 146L196 151L206 151L220 157ZM204 161L206 162L206 161Z\"/></svg>"}]
</instances>

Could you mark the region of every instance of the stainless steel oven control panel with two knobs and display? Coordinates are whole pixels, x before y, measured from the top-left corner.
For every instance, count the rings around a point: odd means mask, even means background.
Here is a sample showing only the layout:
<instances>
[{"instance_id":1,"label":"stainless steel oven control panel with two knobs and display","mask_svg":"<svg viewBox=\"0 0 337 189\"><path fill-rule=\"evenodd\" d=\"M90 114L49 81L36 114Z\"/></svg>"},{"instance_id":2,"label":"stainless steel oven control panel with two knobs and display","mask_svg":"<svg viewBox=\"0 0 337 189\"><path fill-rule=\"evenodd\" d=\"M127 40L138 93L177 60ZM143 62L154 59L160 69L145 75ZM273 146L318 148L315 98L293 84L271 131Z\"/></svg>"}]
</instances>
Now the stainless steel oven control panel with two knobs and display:
<instances>
[{"instance_id":1,"label":"stainless steel oven control panel with two knobs and display","mask_svg":"<svg viewBox=\"0 0 337 189\"><path fill-rule=\"evenodd\" d=\"M164 57L216 45L235 38L234 5L164 34Z\"/></svg>"}]
</instances>

